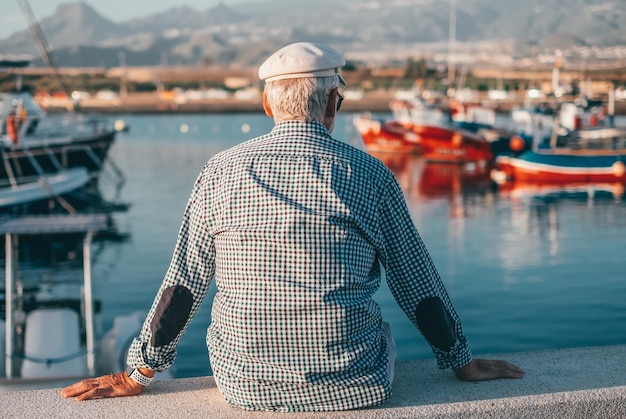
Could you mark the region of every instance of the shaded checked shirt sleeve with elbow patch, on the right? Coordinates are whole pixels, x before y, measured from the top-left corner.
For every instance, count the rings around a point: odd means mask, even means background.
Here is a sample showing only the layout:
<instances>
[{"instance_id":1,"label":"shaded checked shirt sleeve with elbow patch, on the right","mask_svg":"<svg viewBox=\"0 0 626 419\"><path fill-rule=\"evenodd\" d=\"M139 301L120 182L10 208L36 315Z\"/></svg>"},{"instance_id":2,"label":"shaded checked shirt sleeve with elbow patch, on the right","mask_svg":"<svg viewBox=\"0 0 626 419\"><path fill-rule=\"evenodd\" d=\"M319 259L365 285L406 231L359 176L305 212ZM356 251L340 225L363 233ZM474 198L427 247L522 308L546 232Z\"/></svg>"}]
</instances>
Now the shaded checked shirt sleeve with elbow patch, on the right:
<instances>
[{"instance_id":1,"label":"shaded checked shirt sleeve with elbow patch, on the right","mask_svg":"<svg viewBox=\"0 0 626 419\"><path fill-rule=\"evenodd\" d=\"M467 365L472 361L469 342L463 335L461 322L435 264L413 224L402 190L393 176L386 186L379 203L379 222L383 237L381 262L389 289L426 338L439 368ZM431 304L433 300L439 300L438 304ZM428 325L433 327L425 327ZM446 328L449 330L441 330ZM433 329L435 335L448 332L452 337L450 346L442 349L436 344L440 339L433 338Z\"/></svg>"}]
</instances>

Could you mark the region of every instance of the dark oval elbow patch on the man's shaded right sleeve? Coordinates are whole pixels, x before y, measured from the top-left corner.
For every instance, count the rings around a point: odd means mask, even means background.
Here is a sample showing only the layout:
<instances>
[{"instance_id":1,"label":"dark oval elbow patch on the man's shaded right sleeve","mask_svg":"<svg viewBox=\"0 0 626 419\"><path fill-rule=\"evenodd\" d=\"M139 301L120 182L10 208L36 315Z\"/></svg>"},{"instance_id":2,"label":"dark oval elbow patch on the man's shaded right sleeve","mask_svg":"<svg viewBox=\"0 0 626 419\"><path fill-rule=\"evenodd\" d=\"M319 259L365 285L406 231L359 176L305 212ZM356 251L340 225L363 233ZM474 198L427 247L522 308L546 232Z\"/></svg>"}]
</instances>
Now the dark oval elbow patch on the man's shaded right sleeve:
<instances>
[{"instance_id":1,"label":"dark oval elbow patch on the man's shaded right sleeve","mask_svg":"<svg viewBox=\"0 0 626 419\"><path fill-rule=\"evenodd\" d=\"M417 325L435 348L449 352L456 342L454 319L439 297L429 297L415 308Z\"/></svg>"}]
</instances>

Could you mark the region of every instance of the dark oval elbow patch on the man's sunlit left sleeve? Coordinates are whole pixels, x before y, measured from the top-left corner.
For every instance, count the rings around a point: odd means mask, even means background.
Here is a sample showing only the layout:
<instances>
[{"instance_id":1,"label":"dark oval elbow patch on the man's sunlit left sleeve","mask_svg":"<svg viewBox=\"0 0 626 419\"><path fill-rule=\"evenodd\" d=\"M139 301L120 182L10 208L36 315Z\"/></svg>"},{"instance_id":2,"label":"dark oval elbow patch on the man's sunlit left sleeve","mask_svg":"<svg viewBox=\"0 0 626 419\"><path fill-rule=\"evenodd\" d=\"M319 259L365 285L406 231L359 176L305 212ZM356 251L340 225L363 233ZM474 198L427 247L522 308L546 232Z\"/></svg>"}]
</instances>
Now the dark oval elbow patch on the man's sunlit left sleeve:
<instances>
[{"instance_id":1,"label":"dark oval elbow patch on the man's sunlit left sleeve","mask_svg":"<svg viewBox=\"0 0 626 419\"><path fill-rule=\"evenodd\" d=\"M176 339L187 323L192 304L193 296L187 288L181 285L166 288L150 324L150 345L163 346Z\"/></svg>"}]
</instances>

